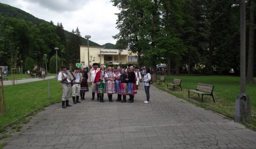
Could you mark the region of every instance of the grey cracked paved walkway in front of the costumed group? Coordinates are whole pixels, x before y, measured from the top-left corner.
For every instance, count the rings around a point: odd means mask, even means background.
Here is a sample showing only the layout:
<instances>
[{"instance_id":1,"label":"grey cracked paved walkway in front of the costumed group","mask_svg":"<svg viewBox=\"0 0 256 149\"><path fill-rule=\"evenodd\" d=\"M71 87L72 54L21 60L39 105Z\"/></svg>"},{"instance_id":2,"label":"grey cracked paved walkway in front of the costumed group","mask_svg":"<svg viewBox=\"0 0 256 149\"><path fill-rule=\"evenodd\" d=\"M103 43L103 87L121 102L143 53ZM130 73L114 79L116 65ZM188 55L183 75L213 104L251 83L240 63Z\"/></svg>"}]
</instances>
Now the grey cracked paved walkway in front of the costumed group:
<instances>
[{"instance_id":1,"label":"grey cracked paved walkway in front of the costumed group","mask_svg":"<svg viewBox=\"0 0 256 149\"><path fill-rule=\"evenodd\" d=\"M256 132L243 125L154 86L150 92L149 104L140 86L134 103L108 102L106 94L100 103L86 93L67 109L51 105L3 149L256 149Z\"/></svg>"}]
</instances>

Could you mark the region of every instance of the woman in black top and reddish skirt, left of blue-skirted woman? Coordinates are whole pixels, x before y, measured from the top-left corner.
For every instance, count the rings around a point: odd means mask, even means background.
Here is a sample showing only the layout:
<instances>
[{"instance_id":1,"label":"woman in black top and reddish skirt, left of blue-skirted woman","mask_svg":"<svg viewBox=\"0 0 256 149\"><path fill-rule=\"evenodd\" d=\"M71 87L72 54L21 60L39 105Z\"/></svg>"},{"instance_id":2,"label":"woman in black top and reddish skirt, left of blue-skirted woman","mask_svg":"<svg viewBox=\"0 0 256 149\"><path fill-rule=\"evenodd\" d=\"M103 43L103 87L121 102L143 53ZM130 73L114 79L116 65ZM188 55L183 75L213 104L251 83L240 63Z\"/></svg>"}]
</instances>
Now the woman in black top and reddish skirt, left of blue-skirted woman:
<instances>
[{"instance_id":1,"label":"woman in black top and reddish skirt, left of blue-skirted woman","mask_svg":"<svg viewBox=\"0 0 256 149\"><path fill-rule=\"evenodd\" d=\"M127 74L125 73L125 69L121 70L121 75L119 76L120 84L118 89L118 95L123 95L123 100L121 102L126 102L126 94L127 94ZM121 97L120 97L121 100Z\"/></svg>"}]
</instances>

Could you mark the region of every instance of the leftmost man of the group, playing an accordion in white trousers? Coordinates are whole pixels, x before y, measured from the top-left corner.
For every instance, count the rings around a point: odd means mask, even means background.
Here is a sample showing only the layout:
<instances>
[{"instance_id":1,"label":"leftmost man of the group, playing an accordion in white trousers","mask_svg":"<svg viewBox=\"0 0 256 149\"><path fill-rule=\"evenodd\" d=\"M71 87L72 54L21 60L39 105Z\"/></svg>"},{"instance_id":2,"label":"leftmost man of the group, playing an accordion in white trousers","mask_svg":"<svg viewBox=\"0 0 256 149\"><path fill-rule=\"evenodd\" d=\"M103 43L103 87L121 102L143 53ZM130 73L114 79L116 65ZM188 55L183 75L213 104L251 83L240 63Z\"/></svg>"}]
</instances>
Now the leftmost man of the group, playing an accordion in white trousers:
<instances>
[{"instance_id":1,"label":"leftmost man of the group, playing an accordion in white trousers","mask_svg":"<svg viewBox=\"0 0 256 149\"><path fill-rule=\"evenodd\" d=\"M66 108L69 107L71 105L68 104L68 99L70 96L70 87L71 87L71 81L68 82L67 81L67 75L65 74L65 72L67 71L67 67L66 66L61 66L61 71L58 74L58 81L62 83L62 98L61 98L61 105L62 108Z\"/></svg>"}]
</instances>

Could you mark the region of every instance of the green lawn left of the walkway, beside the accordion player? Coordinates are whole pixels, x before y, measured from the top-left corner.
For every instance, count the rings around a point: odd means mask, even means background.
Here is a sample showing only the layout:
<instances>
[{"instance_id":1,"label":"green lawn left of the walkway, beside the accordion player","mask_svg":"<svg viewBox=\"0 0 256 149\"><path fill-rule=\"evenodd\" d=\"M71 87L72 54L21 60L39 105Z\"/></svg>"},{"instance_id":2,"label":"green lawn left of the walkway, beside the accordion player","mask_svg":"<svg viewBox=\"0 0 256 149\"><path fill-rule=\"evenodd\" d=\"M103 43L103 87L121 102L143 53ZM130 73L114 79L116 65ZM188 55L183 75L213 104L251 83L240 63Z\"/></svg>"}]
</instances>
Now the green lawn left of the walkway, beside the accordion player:
<instances>
[{"instance_id":1,"label":"green lawn left of the walkway, beside the accordion player","mask_svg":"<svg viewBox=\"0 0 256 149\"><path fill-rule=\"evenodd\" d=\"M48 99L48 80L4 86L6 112L0 115L0 128L21 118L32 111L61 101L61 83L50 79L50 99Z\"/></svg>"}]
</instances>

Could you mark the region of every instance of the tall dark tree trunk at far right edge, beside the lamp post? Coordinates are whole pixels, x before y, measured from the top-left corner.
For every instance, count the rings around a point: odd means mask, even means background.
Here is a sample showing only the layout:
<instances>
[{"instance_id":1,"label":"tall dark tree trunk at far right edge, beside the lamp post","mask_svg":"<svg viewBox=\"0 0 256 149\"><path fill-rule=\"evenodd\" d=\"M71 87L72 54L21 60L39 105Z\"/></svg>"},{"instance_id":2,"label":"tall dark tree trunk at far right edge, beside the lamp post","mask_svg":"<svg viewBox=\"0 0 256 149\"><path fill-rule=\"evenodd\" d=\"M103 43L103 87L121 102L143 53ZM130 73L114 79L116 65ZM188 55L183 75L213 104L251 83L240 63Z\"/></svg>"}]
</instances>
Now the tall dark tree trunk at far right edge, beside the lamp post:
<instances>
[{"instance_id":1,"label":"tall dark tree trunk at far right edge, beside the lamp post","mask_svg":"<svg viewBox=\"0 0 256 149\"><path fill-rule=\"evenodd\" d=\"M249 50L248 50L248 66L246 81L248 83L256 83L254 80L254 0L250 0L250 22L249 27Z\"/></svg>"}]
</instances>

